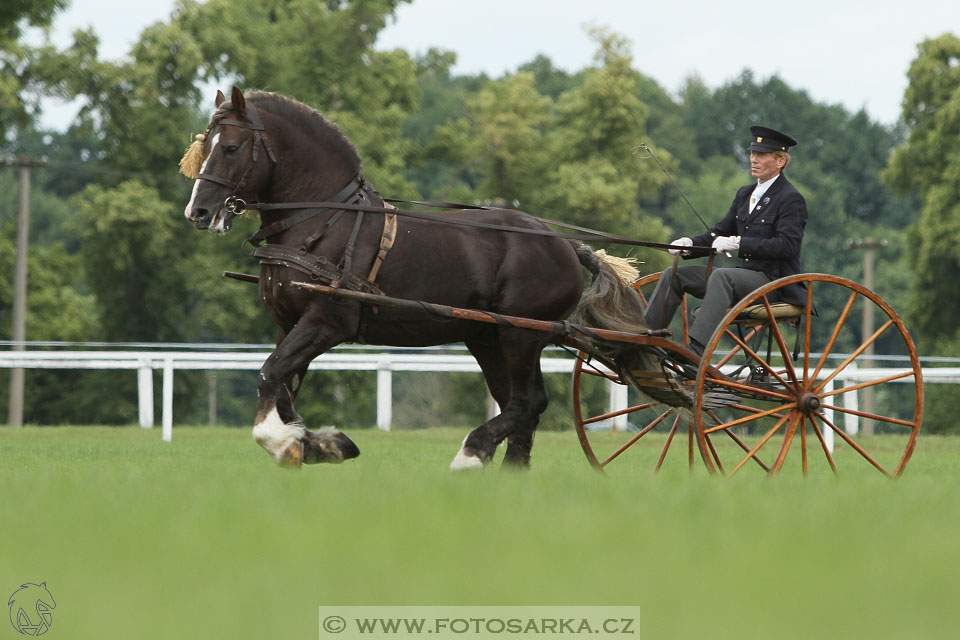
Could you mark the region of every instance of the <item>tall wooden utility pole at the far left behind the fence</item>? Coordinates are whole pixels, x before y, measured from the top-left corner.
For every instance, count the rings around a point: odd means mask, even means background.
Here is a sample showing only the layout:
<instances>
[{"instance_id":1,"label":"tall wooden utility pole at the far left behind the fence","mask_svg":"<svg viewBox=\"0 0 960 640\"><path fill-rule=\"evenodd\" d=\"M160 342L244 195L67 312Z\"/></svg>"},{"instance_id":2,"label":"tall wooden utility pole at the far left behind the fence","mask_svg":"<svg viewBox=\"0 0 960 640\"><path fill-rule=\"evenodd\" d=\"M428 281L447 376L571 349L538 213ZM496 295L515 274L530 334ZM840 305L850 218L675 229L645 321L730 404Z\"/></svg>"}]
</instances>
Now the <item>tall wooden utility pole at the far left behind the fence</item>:
<instances>
[{"instance_id":1,"label":"tall wooden utility pole at the far left behind the fence","mask_svg":"<svg viewBox=\"0 0 960 640\"><path fill-rule=\"evenodd\" d=\"M30 169L46 166L27 154L17 156L4 167L20 168L20 202L17 208L17 257L13 269L13 351L23 351L27 339L27 249L30 242ZM7 424L23 426L23 369L10 370L10 403Z\"/></svg>"}]
</instances>

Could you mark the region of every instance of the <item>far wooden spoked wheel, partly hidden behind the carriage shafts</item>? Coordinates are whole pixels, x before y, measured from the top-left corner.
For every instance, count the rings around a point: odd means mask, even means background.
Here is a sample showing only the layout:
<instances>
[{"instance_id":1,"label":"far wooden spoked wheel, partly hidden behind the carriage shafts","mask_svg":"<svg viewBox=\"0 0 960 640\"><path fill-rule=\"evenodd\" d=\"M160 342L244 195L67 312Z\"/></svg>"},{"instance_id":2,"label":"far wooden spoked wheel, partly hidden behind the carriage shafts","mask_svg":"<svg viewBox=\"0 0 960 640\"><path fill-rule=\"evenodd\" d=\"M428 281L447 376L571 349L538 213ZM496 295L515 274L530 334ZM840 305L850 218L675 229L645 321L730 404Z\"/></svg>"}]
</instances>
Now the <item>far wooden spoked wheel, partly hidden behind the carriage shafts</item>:
<instances>
[{"instance_id":1,"label":"far wooden spoked wheel, partly hidden behind the carriage shafts","mask_svg":"<svg viewBox=\"0 0 960 640\"><path fill-rule=\"evenodd\" d=\"M659 273L639 279L632 288L640 294L644 305L652 295ZM687 337L686 298L682 303L682 319L677 320L677 330ZM609 410L610 385L612 382L623 387L619 392L628 394L628 398L637 399L635 404L621 411ZM639 394L629 389L626 382L616 372L590 359L581 352L573 371L573 415L580 446L590 464L596 469L604 469L614 460L629 460L631 464L648 465L658 471L664 464L672 445L686 436L684 457L687 464L694 463L694 422L689 410L679 409L639 398ZM623 424L618 430L614 427ZM683 446L683 445L680 445ZM674 447L676 448L676 447ZM630 455L624 455L630 451Z\"/></svg>"}]
</instances>

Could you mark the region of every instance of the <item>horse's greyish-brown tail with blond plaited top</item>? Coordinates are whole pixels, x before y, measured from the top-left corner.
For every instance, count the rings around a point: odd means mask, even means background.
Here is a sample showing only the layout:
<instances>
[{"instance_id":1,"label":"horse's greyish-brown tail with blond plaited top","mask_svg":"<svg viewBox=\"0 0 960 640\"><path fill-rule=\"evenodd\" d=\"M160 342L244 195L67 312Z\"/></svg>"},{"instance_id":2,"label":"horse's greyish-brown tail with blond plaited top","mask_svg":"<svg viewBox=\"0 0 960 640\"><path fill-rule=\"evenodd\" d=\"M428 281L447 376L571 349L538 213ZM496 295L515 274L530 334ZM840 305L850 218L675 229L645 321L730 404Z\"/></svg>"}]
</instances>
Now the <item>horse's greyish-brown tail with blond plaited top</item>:
<instances>
[{"instance_id":1,"label":"horse's greyish-brown tail with blond plaited top","mask_svg":"<svg viewBox=\"0 0 960 640\"><path fill-rule=\"evenodd\" d=\"M577 324L611 331L637 333L647 329L643 321L644 305L628 285L637 279L632 261L594 252L582 242L571 241L580 264L593 278L580 297L573 321Z\"/></svg>"}]
</instances>

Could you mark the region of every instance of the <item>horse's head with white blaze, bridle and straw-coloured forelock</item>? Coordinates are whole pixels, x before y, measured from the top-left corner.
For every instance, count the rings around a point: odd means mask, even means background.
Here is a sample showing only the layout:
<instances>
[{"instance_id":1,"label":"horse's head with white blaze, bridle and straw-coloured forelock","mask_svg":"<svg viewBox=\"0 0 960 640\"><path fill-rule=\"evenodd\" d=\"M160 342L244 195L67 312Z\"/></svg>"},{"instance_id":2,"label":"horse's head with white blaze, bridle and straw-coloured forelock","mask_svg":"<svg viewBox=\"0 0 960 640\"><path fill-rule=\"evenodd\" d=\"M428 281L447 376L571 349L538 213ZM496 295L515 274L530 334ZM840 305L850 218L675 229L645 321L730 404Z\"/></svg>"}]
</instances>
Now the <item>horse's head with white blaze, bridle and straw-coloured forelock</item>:
<instances>
[{"instance_id":1,"label":"horse's head with white blaze, bridle and straw-coloured forelock","mask_svg":"<svg viewBox=\"0 0 960 640\"><path fill-rule=\"evenodd\" d=\"M217 91L216 104L206 133L197 136L180 167L196 178L183 215L198 229L222 233L269 183L276 158L260 116L243 92L234 87L228 102Z\"/></svg>"}]
</instances>

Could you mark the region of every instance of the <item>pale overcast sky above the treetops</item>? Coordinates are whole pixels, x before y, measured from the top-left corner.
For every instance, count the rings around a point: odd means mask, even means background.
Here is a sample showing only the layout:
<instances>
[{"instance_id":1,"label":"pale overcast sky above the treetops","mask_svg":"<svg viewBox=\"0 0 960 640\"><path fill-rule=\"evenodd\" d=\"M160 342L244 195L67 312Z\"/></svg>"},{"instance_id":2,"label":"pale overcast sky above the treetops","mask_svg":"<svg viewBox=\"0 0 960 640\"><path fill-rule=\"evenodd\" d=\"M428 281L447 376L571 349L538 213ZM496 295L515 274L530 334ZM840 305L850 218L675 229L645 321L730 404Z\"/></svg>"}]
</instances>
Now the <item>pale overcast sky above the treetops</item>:
<instances>
[{"instance_id":1,"label":"pale overcast sky above the treetops","mask_svg":"<svg viewBox=\"0 0 960 640\"><path fill-rule=\"evenodd\" d=\"M101 57L120 59L175 4L71 0L52 39L66 46L74 29L92 26ZM758 79L776 74L817 102L863 108L892 124L917 45L960 35L960 0L414 0L398 9L376 46L454 51L455 74L500 77L539 54L578 71L596 52L588 26L627 38L634 68L673 95L692 75L716 88L751 69ZM51 107L44 124L63 128L71 115L69 107Z\"/></svg>"}]
</instances>

